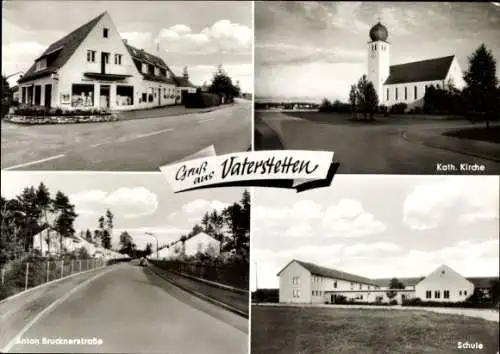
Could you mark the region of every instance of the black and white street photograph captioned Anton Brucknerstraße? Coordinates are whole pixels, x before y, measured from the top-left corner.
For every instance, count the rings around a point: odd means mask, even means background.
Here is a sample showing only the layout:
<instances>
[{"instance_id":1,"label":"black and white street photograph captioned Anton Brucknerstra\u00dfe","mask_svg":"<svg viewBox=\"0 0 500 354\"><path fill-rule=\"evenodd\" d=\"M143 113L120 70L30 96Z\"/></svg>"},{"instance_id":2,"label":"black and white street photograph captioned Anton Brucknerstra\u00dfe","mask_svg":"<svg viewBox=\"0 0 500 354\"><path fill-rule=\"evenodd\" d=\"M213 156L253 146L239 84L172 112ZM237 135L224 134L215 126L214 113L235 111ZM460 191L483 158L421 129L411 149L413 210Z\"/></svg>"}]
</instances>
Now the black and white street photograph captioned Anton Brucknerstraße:
<instances>
[{"instance_id":1,"label":"black and white street photograph captioned Anton Brucknerstra\u00dfe","mask_svg":"<svg viewBox=\"0 0 500 354\"><path fill-rule=\"evenodd\" d=\"M1 189L2 353L248 353L248 190L38 171Z\"/></svg>"}]
</instances>

